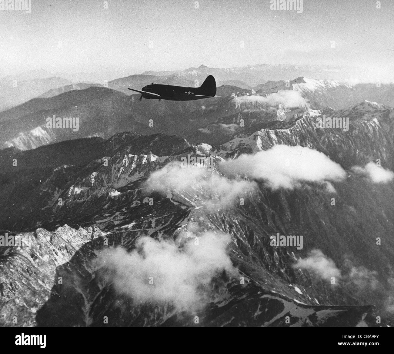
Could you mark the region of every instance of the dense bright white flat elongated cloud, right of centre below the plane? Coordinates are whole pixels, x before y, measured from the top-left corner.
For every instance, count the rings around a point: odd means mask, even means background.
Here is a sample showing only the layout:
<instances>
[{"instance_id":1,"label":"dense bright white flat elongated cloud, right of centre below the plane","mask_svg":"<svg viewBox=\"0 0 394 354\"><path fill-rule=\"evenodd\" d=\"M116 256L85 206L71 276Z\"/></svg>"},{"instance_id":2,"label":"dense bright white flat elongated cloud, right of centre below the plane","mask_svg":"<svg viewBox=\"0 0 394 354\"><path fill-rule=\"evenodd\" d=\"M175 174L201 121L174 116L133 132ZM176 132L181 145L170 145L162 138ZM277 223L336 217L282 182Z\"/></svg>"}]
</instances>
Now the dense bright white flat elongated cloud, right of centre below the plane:
<instances>
[{"instance_id":1,"label":"dense bright white flat elongated cloud, right of centre below the plane","mask_svg":"<svg viewBox=\"0 0 394 354\"><path fill-rule=\"evenodd\" d=\"M272 189L292 189L305 181L325 183L326 189L332 192L333 186L327 185L327 181L346 178L342 167L322 152L288 145L275 145L253 155L223 161L219 163L219 171L226 175L264 180Z\"/></svg>"}]
</instances>

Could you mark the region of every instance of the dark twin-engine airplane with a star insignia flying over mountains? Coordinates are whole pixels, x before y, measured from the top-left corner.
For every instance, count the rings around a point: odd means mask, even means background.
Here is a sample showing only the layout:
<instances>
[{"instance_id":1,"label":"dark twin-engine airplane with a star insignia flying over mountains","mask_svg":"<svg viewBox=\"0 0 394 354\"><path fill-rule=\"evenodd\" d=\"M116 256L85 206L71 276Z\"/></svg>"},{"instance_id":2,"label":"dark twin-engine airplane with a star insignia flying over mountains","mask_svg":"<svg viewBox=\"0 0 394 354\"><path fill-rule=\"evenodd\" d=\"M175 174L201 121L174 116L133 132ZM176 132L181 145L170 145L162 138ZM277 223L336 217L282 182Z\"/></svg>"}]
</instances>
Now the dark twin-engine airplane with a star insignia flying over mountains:
<instances>
[{"instance_id":1,"label":"dark twin-engine airplane with a star insignia flying over mountains","mask_svg":"<svg viewBox=\"0 0 394 354\"><path fill-rule=\"evenodd\" d=\"M200 100L201 98L220 97L216 96L216 81L212 75L207 76L200 87L182 87L152 83L152 85L143 87L141 91L130 88L128 90L141 93L140 101L142 98L159 101L190 101Z\"/></svg>"}]
</instances>

